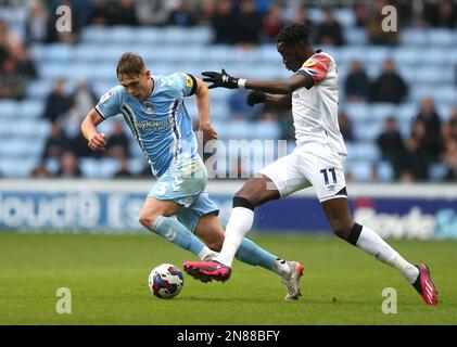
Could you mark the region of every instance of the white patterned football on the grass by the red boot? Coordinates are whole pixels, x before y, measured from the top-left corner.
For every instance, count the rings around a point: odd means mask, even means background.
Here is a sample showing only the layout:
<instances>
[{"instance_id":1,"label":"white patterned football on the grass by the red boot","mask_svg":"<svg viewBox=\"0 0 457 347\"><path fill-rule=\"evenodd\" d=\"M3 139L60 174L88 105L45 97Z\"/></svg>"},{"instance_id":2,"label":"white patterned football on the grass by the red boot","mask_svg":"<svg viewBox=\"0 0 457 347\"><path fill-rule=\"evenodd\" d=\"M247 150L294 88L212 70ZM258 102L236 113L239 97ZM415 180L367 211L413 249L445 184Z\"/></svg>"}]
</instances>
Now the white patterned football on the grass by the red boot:
<instances>
[{"instance_id":1,"label":"white patterned football on the grass by the red boot","mask_svg":"<svg viewBox=\"0 0 457 347\"><path fill-rule=\"evenodd\" d=\"M161 264L149 274L149 288L162 299L170 299L181 292L185 285L182 272L172 264Z\"/></svg>"}]
</instances>

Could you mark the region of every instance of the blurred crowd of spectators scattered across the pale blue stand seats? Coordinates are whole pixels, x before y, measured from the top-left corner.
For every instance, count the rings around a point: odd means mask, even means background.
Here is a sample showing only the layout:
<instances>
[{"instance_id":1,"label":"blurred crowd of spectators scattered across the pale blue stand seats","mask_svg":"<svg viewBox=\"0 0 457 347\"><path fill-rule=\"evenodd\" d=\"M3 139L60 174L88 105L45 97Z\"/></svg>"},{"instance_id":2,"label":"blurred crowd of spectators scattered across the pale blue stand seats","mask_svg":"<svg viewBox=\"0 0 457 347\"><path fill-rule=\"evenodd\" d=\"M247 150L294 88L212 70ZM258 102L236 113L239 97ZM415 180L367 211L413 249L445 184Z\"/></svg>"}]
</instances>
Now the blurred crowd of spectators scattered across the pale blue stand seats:
<instances>
[{"instance_id":1,"label":"blurred crowd of spectators scattered across the pale blue stand seats","mask_svg":"<svg viewBox=\"0 0 457 347\"><path fill-rule=\"evenodd\" d=\"M0 0L1 4L21 5L21 0ZM307 15L307 7L300 1L269 0L66 0L39 1L28 4L25 39L14 34L5 21L0 20L0 99L23 100L26 85L37 77L37 68L30 59L29 47L35 42L66 42L76 44L78 34L86 25L129 25L129 26L211 26L214 43L239 44L250 48L259 43L274 42L277 34L292 22L313 27L313 43L346 44L342 25L334 16L331 7L323 9L320 23L313 23ZM58 33L53 29L55 9L61 4L72 5L73 31ZM398 43L395 33L381 30L383 5L393 4L397 9L399 26L416 27L457 27L457 5L453 1L365 1L354 2L357 27L365 28L371 44ZM346 102L386 102L402 103L410 88L396 72L392 60L384 61L379 76L371 80L365 66L353 61L344 80ZM55 81L47 98L42 117L51 126L49 139L42 153L42 162L54 158L59 163L56 176L80 177L78 157L110 156L118 159L122 169L117 177L130 176L126 162L130 157L129 139L119 124L114 124L109 139L110 151L91 153L87 141L81 138L79 124L81 117L97 103L91 87L80 81L71 93L66 92L65 81ZM293 139L293 124L290 114L258 106L250 108L244 103L245 92L234 91L229 99L229 110L233 120L277 121L281 127L282 139ZM385 123L377 143L382 157L389 160L395 178L402 181L427 180L428 169L434 162L445 163L448 167L446 180L457 180L457 107L450 120L443 123L434 102L424 98L419 113L411 117L411 131L403 138L393 114ZM449 117L446 117L448 119ZM340 127L347 142L354 140L351 115L340 114ZM144 172L148 172L145 168ZM48 176L45 166L31 172L35 177ZM149 175L149 174L148 174ZM373 177L373 180L376 177Z\"/></svg>"}]
</instances>

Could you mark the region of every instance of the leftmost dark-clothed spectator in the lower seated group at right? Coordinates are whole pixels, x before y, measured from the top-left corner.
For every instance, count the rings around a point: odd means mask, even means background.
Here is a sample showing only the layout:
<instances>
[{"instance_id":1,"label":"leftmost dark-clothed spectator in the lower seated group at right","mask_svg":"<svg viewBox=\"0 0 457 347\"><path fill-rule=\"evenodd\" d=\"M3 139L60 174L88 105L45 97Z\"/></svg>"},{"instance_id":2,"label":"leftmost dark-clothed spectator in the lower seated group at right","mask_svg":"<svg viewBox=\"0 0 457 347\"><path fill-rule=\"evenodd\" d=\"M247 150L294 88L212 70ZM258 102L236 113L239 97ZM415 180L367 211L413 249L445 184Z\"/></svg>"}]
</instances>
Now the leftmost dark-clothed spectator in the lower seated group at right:
<instances>
[{"instance_id":1,"label":"leftmost dark-clothed spectator in the lower seated group at right","mask_svg":"<svg viewBox=\"0 0 457 347\"><path fill-rule=\"evenodd\" d=\"M393 116L385 119L384 130L378 136L377 143L381 151L382 158L392 165L395 171L395 178L399 178L402 160L405 155L405 146Z\"/></svg>"}]
</instances>

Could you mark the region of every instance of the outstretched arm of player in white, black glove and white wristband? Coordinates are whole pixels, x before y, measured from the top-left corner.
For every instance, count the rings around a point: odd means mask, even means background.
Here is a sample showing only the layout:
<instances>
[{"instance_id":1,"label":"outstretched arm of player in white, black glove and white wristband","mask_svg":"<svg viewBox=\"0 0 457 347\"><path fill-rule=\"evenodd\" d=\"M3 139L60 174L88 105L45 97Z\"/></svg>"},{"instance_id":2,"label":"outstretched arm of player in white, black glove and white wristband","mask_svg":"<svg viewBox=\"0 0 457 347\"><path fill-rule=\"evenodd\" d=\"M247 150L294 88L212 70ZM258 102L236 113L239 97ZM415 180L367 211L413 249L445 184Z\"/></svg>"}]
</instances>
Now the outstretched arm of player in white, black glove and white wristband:
<instances>
[{"instance_id":1,"label":"outstretched arm of player in white, black glove and white wristband","mask_svg":"<svg viewBox=\"0 0 457 347\"><path fill-rule=\"evenodd\" d=\"M212 82L208 88L229 88L229 89L252 89L256 91L263 91L272 94L291 94L299 88L310 88L314 86L313 77L306 73L295 74L284 79L269 79L269 80L256 80L256 79L244 79L230 76L224 68L221 73L216 72L204 72L202 73L203 78L206 82Z\"/></svg>"}]
</instances>

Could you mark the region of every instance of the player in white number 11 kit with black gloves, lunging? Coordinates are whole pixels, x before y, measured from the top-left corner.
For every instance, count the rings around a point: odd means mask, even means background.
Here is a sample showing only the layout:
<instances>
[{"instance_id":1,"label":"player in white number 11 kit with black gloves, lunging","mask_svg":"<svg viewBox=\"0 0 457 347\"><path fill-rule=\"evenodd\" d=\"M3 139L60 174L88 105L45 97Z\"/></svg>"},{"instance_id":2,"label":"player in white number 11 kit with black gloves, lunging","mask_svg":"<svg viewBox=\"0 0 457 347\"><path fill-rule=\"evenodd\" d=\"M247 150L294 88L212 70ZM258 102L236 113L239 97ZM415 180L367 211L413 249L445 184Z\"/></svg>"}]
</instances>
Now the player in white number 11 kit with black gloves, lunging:
<instances>
[{"instance_id":1,"label":"player in white number 11 kit with black gloves, lunging","mask_svg":"<svg viewBox=\"0 0 457 347\"><path fill-rule=\"evenodd\" d=\"M247 104L265 103L292 110L296 147L251 178L233 197L223 249L212 261L186 262L185 270L196 279L226 281L233 256L254 220L254 209L270 200L285 197L313 185L333 232L376 259L401 272L428 305L437 304L437 292L426 264L411 265L373 230L354 221L347 202L344 160L346 147L338 125L338 69L334 59L314 51L309 29L292 24L277 38L278 52L294 74L287 79L253 80L236 78L221 70L203 73L210 89L246 88L254 90ZM297 299L303 266L285 282L293 287L290 299Z\"/></svg>"}]
</instances>

